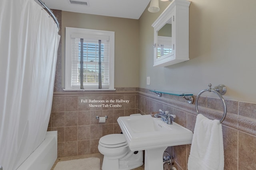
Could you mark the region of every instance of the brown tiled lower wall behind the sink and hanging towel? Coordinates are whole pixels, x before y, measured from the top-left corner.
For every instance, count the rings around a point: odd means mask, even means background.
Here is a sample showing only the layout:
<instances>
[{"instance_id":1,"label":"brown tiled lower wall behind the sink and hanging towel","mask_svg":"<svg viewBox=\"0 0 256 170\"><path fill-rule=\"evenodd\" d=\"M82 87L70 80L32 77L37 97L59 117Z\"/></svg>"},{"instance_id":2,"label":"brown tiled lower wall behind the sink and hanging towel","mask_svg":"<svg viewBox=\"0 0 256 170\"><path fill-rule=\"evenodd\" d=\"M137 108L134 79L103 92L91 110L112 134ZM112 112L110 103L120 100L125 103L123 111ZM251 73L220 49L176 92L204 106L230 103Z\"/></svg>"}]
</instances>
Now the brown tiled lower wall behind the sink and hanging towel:
<instances>
[{"instance_id":1,"label":"brown tiled lower wall behind the sink and hanging towel","mask_svg":"<svg viewBox=\"0 0 256 170\"><path fill-rule=\"evenodd\" d=\"M196 96L194 96L196 98ZM256 169L256 104L225 100L227 115L222 123L224 141L225 170ZM158 97L148 89L139 88L138 109L150 114L158 109L168 110L176 115L175 122L194 131L196 109L179 96L162 95ZM210 119L220 119L223 106L218 98L201 97L198 100L199 112ZM186 170L190 145L173 147L175 166Z\"/></svg>"}]
</instances>

